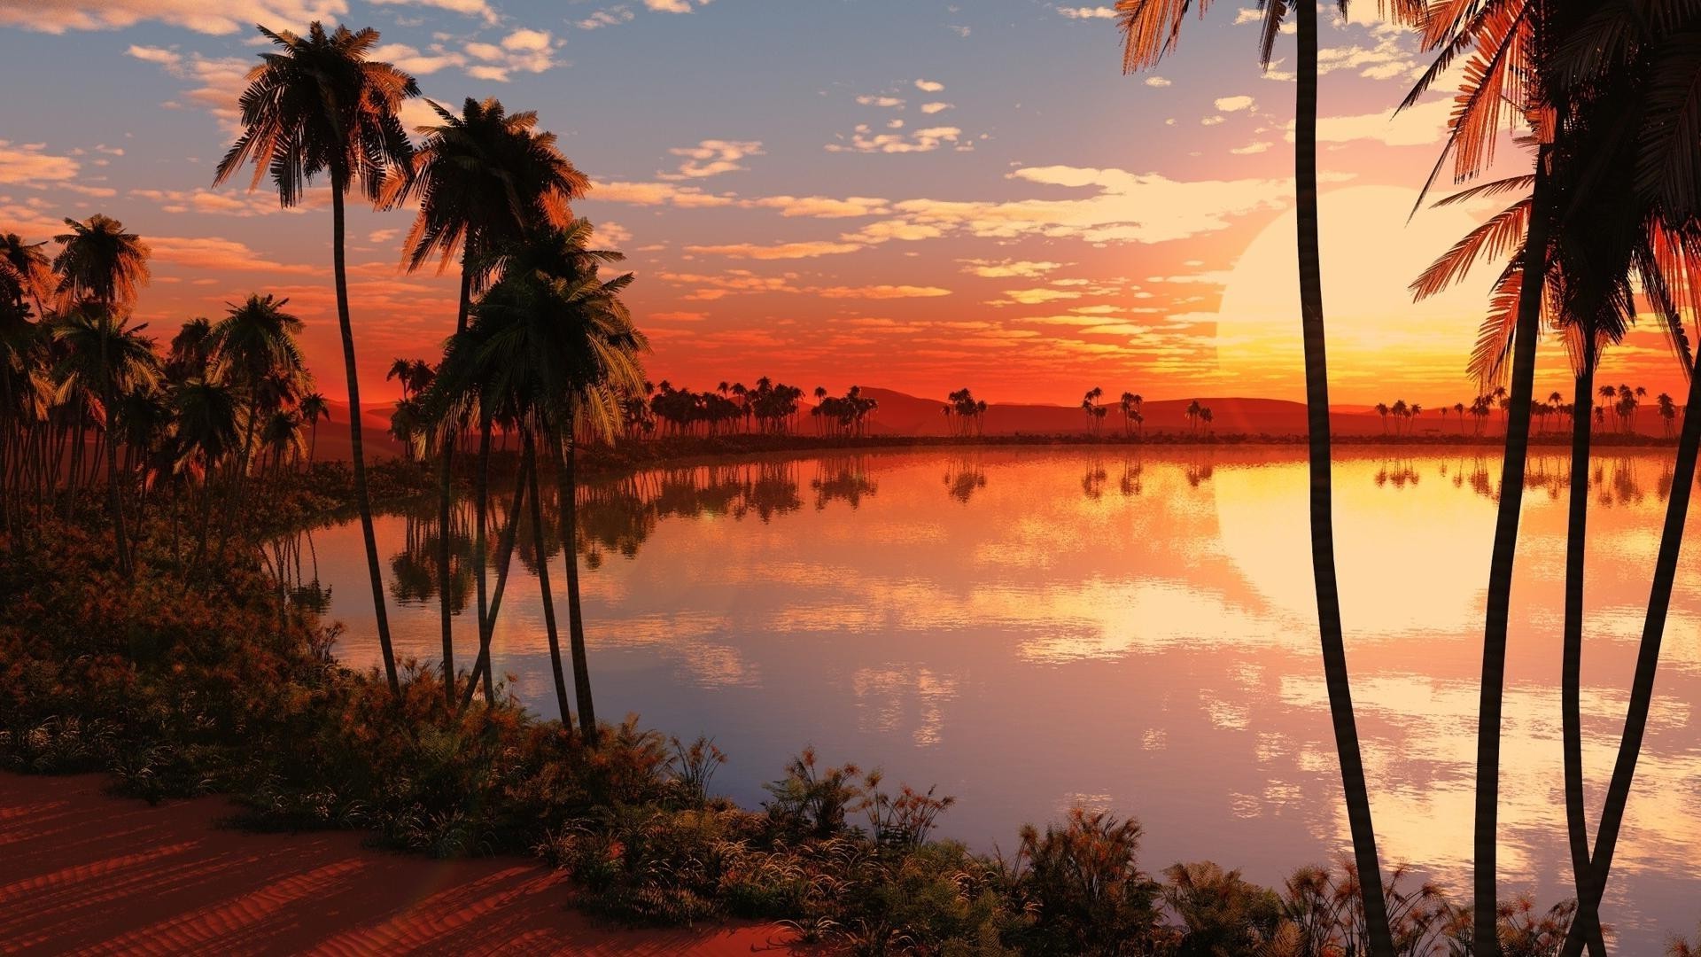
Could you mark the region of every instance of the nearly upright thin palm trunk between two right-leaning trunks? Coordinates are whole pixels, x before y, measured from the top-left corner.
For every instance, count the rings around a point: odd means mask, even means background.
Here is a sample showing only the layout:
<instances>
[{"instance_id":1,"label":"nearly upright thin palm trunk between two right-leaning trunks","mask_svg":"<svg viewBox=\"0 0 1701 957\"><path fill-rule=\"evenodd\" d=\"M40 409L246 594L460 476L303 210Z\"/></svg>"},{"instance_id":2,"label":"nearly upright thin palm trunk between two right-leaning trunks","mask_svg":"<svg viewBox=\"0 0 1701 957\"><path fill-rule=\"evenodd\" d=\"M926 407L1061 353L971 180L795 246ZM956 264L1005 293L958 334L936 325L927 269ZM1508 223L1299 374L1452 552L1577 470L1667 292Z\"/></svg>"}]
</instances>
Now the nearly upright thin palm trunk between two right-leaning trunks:
<instances>
[{"instance_id":1,"label":"nearly upright thin palm trunk between two right-leaning trunks","mask_svg":"<svg viewBox=\"0 0 1701 957\"><path fill-rule=\"evenodd\" d=\"M1594 354L1584 356L1572 415L1570 518L1565 528L1565 649L1560 668L1560 710L1565 725L1565 831L1572 848L1577 899L1589 894L1589 819L1584 816L1584 553L1589 530L1589 397L1594 395ZM1592 957L1606 957L1601 921L1584 928Z\"/></svg>"}]
</instances>

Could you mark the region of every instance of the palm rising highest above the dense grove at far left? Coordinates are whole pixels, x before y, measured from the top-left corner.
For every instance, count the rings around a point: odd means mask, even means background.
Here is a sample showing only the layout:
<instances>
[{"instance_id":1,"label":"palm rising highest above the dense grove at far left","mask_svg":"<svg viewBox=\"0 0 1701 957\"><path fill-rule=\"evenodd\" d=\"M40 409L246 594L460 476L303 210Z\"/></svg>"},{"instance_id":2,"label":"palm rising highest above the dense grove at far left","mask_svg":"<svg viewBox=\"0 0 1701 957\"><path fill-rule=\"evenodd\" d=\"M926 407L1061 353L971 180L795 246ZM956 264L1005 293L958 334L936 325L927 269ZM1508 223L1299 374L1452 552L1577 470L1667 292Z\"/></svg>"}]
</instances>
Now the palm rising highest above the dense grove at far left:
<instances>
[{"instance_id":1,"label":"palm rising highest above the dense grove at far left","mask_svg":"<svg viewBox=\"0 0 1701 957\"><path fill-rule=\"evenodd\" d=\"M105 371L100 383L105 392L100 404L111 417L117 410L117 378L105 349L109 341L119 334L117 312L129 308L136 301L136 293L148 283L148 245L136 233L126 233L124 223L104 215L88 216L85 221L65 220L71 232L54 237L61 244L60 255L53 261L54 272L60 274L58 293L65 303L78 300L92 303L100 313L107 330L99 335L100 364ZM124 499L117 487L117 429L109 421L105 429L107 443L107 509L112 514L112 538L117 552L117 567L126 577L131 574L129 547L124 542Z\"/></svg>"}]
</instances>

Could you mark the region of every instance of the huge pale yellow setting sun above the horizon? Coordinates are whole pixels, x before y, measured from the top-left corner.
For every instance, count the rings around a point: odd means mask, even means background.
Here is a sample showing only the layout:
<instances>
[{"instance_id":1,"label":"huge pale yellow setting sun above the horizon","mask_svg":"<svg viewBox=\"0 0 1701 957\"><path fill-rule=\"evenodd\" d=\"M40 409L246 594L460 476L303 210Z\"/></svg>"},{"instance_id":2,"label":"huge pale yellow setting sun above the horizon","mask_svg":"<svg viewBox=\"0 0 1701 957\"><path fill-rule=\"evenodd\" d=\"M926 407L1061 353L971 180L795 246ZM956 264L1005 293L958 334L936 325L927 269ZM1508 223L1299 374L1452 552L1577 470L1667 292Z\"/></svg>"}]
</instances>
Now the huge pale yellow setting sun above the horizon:
<instances>
[{"instance_id":1,"label":"huge pale yellow setting sun above the horizon","mask_svg":"<svg viewBox=\"0 0 1701 957\"><path fill-rule=\"evenodd\" d=\"M1354 186L1318 201L1332 404L1475 395L1466 361L1500 264L1414 303L1408 284L1478 223L1466 208L1424 208L1417 192ZM1242 395L1305 398L1293 209L1240 255L1216 322L1218 371Z\"/></svg>"}]
</instances>

